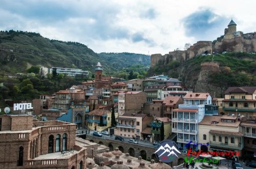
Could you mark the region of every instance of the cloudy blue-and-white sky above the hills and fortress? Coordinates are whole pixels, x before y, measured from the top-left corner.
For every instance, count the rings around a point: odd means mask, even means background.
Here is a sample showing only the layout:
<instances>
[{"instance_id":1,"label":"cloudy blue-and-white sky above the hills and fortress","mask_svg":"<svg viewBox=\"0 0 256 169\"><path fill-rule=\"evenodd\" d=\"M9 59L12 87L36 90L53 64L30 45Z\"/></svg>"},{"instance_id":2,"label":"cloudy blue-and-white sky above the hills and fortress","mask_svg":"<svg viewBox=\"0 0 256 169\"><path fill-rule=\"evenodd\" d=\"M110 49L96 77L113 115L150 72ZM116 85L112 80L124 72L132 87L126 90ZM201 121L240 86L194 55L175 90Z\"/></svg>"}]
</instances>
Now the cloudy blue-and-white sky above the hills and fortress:
<instances>
[{"instance_id":1,"label":"cloudy blue-and-white sky above the hills and fortress","mask_svg":"<svg viewBox=\"0 0 256 169\"><path fill-rule=\"evenodd\" d=\"M256 31L255 0L0 0L0 30L80 42L95 52L165 54L215 40L233 18Z\"/></svg>"}]
</instances>

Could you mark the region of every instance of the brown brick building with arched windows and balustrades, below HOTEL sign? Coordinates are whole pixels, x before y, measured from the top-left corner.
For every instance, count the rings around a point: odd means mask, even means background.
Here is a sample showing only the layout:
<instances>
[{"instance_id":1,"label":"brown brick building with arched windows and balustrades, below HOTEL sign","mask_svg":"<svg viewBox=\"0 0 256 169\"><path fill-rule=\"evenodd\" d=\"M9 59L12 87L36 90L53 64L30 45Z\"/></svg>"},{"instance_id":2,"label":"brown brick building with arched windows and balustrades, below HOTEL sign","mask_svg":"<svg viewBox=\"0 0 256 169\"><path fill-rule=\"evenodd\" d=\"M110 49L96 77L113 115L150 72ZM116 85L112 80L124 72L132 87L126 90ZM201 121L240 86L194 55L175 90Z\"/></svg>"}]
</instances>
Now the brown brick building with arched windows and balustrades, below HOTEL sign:
<instances>
[{"instance_id":1,"label":"brown brick building with arched windows and balustrades, below HOTEL sign","mask_svg":"<svg viewBox=\"0 0 256 169\"><path fill-rule=\"evenodd\" d=\"M0 168L86 168L87 152L75 144L75 132L72 123L1 115Z\"/></svg>"}]
</instances>

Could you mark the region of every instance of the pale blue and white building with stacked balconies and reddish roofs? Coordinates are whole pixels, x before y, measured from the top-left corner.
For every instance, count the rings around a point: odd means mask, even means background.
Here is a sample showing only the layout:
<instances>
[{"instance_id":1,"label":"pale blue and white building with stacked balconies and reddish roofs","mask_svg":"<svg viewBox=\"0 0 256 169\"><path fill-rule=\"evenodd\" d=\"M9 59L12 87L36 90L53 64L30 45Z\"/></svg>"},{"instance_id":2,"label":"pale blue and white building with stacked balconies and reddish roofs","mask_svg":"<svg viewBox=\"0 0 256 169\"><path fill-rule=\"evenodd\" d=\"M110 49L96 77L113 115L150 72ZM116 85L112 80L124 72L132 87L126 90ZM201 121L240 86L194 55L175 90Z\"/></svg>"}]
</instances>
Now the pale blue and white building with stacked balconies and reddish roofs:
<instances>
[{"instance_id":1,"label":"pale blue and white building with stacked balconies and reddish roofs","mask_svg":"<svg viewBox=\"0 0 256 169\"><path fill-rule=\"evenodd\" d=\"M212 98L209 93L188 93L183 99L184 104L172 111L172 131L177 133L178 146L188 149L187 143L198 142L198 123L203 120L205 105L210 105Z\"/></svg>"}]
</instances>

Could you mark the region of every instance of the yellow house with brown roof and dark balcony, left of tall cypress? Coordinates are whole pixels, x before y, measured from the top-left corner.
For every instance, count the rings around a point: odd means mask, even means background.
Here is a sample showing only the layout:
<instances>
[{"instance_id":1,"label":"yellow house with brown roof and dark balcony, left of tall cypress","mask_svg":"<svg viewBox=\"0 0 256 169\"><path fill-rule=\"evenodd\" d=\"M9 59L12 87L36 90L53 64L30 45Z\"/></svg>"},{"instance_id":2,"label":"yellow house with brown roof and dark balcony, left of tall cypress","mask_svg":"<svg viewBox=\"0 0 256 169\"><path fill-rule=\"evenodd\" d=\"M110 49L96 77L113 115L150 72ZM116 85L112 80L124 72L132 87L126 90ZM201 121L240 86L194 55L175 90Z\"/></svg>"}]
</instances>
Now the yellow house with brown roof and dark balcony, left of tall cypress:
<instances>
[{"instance_id":1,"label":"yellow house with brown roof and dark balcony, left of tall cypress","mask_svg":"<svg viewBox=\"0 0 256 169\"><path fill-rule=\"evenodd\" d=\"M111 112L103 109L96 109L86 115L86 124L91 130L102 131L111 126ZM117 118L117 112L115 117Z\"/></svg>"}]
</instances>

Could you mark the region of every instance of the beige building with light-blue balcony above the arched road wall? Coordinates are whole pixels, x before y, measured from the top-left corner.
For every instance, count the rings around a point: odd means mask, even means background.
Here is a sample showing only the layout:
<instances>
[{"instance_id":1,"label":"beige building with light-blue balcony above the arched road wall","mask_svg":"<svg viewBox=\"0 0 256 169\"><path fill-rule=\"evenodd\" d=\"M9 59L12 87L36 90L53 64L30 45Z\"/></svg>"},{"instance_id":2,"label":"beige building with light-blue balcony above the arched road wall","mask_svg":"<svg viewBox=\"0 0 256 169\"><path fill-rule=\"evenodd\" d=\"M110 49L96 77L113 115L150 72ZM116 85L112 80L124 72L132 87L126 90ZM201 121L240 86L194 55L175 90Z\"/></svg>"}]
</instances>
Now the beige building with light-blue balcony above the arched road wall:
<instances>
[{"instance_id":1,"label":"beige building with light-blue balcony above the arched road wall","mask_svg":"<svg viewBox=\"0 0 256 169\"><path fill-rule=\"evenodd\" d=\"M153 117L147 116L145 114L124 114L123 116L119 116L116 118L117 125L115 129L115 135L137 139L145 137L145 135L143 135L141 132L151 124L153 119Z\"/></svg>"}]
</instances>

